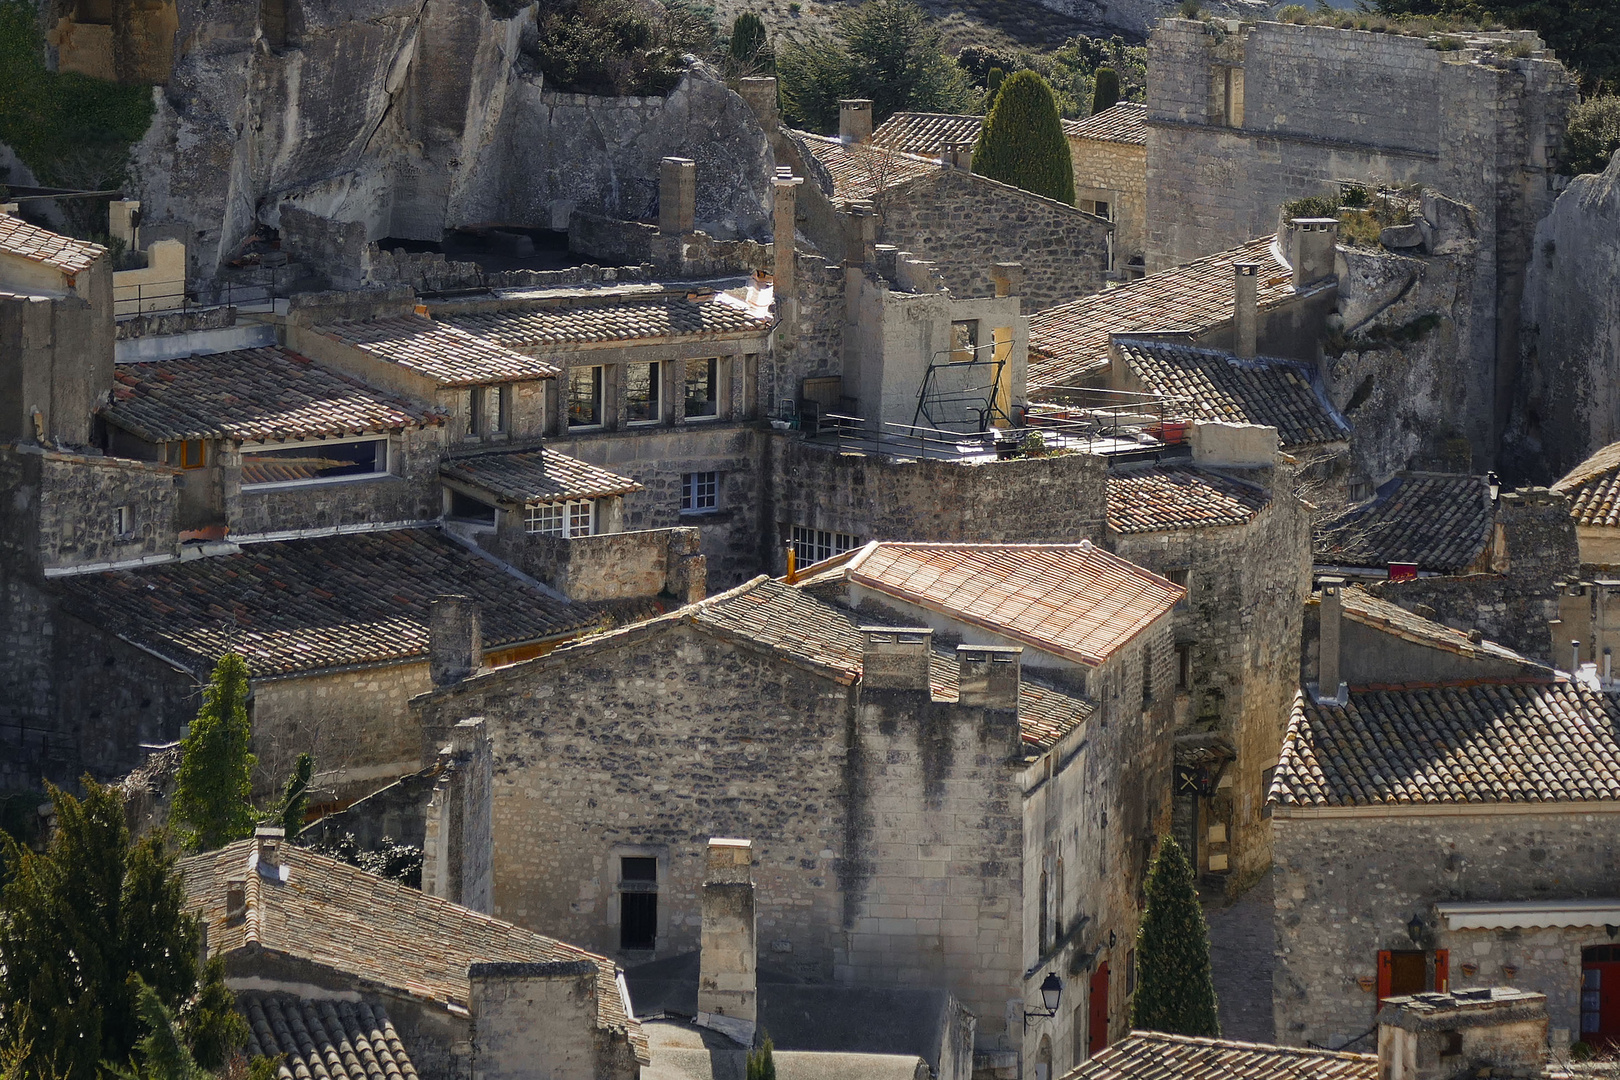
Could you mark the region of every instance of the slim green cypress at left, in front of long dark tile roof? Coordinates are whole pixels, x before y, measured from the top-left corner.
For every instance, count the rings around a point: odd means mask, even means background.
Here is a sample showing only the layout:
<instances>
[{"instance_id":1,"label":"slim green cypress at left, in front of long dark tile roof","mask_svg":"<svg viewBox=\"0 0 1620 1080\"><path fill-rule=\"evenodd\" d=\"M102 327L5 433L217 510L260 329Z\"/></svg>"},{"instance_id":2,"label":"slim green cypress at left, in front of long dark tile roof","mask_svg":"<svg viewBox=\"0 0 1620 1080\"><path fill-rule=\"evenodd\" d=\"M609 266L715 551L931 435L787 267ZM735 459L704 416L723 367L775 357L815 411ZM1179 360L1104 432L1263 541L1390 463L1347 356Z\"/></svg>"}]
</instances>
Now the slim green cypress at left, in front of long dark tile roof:
<instances>
[{"instance_id":1,"label":"slim green cypress at left, in front of long dark tile roof","mask_svg":"<svg viewBox=\"0 0 1620 1080\"><path fill-rule=\"evenodd\" d=\"M193 852L253 836L253 766L248 753L248 664L219 657L202 691L202 708L180 746L175 824Z\"/></svg>"}]
</instances>

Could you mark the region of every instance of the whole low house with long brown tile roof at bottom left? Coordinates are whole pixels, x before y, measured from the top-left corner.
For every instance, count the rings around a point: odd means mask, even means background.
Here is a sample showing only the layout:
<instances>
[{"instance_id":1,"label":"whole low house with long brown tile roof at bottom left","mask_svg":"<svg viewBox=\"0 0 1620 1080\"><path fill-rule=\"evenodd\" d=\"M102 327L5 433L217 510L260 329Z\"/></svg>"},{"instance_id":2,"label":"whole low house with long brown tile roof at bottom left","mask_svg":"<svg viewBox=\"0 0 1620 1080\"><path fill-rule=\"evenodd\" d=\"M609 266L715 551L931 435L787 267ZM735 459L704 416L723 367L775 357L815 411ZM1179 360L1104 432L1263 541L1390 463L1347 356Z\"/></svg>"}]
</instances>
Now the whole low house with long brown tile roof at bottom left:
<instances>
[{"instance_id":1,"label":"whole low house with long brown tile roof at bottom left","mask_svg":"<svg viewBox=\"0 0 1620 1080\"><path fill-rule=\"evenodd\" d=\"M186 905L279 1075L635 1080L650 1064L612 960L261 827L180 863Z\"/></svg>"}]
</instances>

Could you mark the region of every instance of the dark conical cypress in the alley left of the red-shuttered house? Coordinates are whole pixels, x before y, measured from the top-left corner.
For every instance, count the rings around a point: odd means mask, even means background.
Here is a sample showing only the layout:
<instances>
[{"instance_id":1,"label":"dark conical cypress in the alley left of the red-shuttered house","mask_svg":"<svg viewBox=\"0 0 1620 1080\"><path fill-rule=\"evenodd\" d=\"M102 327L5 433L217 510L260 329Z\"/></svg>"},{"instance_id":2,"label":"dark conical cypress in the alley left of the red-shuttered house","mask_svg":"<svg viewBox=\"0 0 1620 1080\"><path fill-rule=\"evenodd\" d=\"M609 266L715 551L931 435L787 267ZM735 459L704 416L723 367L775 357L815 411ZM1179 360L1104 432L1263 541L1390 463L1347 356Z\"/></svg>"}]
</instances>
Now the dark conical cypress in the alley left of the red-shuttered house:
<instances>
[{"instance_id":1,"label":"dark conical cypress in the alley left of the red-shuttered house","mask_svg":"<svg viewBox=\"0 0 1620 1080\"><path fill-rule=\"evenodd\" d=\"M1131 1027L1170 1035L1220 1036L1210 939L1192 868L1173 837L1162 837L1147 874L1147 910L1136 934Z\"/></svg>"}]
</instances>

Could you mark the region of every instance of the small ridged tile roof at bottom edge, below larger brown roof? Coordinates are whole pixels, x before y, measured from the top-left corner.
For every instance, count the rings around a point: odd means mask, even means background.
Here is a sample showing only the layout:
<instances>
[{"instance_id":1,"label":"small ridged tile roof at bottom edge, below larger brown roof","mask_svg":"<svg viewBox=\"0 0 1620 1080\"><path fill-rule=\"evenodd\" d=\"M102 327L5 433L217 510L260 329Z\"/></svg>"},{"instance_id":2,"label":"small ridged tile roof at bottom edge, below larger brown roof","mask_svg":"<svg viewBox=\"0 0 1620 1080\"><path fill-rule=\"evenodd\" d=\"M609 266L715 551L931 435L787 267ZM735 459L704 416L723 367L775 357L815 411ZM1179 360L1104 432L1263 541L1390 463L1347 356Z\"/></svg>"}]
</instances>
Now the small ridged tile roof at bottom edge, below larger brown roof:
<instances>
[{"instance_id":1,"label":"small ridged tile roof at bottom edge, below larger brown roof","mask_svg":"<svg viewBox=\"0 0 1620 1080\"><path fill-rule=\"evenodd\" d=\"M280 1080L416 1080L416 1065L381 1004L303 1001L246 991L249 1057L277 1059Z\"/></svg>"}]
</instances>

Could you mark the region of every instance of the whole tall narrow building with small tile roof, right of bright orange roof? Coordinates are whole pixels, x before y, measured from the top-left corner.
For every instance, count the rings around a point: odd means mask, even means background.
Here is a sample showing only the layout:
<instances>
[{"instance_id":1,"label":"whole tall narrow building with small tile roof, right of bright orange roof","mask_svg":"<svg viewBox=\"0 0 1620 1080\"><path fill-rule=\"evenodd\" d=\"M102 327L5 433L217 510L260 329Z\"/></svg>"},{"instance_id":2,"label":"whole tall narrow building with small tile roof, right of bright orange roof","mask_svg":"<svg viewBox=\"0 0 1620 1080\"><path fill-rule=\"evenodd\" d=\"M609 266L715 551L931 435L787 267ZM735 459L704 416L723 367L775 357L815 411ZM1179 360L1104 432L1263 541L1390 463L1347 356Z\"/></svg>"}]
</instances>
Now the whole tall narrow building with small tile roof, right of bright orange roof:
<instances>
[{"instance_id":1,"label":"whole tall narrow building with small tile roof, right of bright orange roof","mask_svg":"<svg viewBox=\"0 0 1620 1080\"><path fill-rule=\"evenodd\" d=\"M1298 688L1307 505L1273 427L1196 423L1184 460L1108 471L1106 546L1187 589L1176 649L1174 834L1205 894L1272 865L1270 769Z\"/></svg>"}]
</instances>

